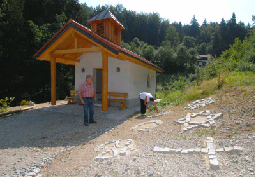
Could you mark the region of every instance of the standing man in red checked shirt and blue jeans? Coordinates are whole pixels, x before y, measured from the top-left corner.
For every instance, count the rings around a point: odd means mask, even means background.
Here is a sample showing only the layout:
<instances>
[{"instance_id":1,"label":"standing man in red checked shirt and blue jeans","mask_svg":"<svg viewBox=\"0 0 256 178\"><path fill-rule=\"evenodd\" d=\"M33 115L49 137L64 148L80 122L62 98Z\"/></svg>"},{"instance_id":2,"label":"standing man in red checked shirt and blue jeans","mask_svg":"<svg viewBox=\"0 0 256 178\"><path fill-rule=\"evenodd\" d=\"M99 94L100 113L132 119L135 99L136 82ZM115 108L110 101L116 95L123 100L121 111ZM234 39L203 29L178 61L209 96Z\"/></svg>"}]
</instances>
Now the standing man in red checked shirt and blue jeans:
<instances>
[{"instance_id":1,"label":"standing man in red checked shirt and blue jeans","mask_svg":"<svg viewBox=\"0 0 256 178\"><path fill-rule=\"evenodd\" d=\"M93 76L87 75L86 81L79 85L79 97L81 104L84 106L84 125L89 123L97 123L94 121L94 102L96 102L96 95L94 90ZM88 109L89 109L89 123L88 123Z\"/></svg>"}]
</instances>

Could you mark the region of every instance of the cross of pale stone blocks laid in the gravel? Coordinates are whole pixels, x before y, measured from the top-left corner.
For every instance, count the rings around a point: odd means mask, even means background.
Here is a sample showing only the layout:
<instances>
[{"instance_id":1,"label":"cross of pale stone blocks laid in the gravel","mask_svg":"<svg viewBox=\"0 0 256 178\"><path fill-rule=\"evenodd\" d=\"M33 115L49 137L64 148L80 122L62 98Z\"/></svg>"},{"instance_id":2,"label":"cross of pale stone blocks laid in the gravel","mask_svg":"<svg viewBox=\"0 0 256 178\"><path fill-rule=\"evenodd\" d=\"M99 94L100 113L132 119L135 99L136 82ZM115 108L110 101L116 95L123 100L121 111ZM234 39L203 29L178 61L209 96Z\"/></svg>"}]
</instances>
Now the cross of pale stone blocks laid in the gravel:
<instances>
[{"instance_id":1,"label":"cross of pale stone blocks laid in the gravel","mask_svg":"<svg viewBox=\"0 0 256 178\"><path fill-rule=\"evenodd\" d=\"M160 148L158 146L155 146L153 149L153 153L178 154L178 155L208 154L210 169L220 170L220 165L218 163L216 153L240 154L243 151L243 147L240 147L240 146L215 149L212 137L207 137L206 144L207 144L207 148L202 147L202 148L191 148L191 149L182 149L182 148L170 149L168 147Z\"/></svg>"}]
</instances>

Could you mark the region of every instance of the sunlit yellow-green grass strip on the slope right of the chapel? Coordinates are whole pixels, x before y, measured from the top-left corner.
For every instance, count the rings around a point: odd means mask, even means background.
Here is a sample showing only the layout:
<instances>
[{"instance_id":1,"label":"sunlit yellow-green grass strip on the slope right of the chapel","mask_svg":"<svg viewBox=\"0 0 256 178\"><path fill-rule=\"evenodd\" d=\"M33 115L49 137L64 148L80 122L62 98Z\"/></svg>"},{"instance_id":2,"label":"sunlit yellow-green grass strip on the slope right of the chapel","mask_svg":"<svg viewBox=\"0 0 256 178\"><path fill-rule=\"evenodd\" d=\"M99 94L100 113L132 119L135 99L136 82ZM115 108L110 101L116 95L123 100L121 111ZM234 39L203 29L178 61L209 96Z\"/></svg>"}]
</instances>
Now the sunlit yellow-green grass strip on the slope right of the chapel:
<instances>
[{"instance_id":1,"label":"sunlit yellow-green grass strip on the slope right of the chapel","mask_svg":"<svg viewBox=\"0 0 256 178\"><path fill-rule=\"evenodd\" d=\"M166 76L167 77L167 76ZM188 82L182 90L167 90L158 92L158 98L162 99L158 106L176 106L183 102L200 99L213 95L220 89L229 89L234 86L255 86L255 73L253 72L225 72L211 80L202 81L200 85L192 85ZM168 88L168 87L166 87ZM245 92L246 95L246 92Z\"/></svg>"}]
</instances>

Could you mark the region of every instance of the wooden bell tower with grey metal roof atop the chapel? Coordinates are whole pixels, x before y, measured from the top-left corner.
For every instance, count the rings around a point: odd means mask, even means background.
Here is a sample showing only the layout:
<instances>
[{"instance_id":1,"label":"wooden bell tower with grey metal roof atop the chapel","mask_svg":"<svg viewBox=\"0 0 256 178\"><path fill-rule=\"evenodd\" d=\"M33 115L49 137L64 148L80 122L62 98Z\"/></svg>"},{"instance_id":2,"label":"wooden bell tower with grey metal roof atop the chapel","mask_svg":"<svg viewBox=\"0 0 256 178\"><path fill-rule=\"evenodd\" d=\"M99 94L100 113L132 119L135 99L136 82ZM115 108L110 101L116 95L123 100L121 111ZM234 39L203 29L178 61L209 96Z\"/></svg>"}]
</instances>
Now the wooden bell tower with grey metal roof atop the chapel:
<instances>
[{"instance_id":1,"label":"wooden bell tower with grey metal roof atop the chapel","mask_svg":"<svg viewBox=\"0 0 256 178\"><path fill-rule=\"evenodd\" d=\"M87 22L91 24L91 31L121 46L122 30L125 28L108 9L98 13Z\"/></svg>"}]
</instances>

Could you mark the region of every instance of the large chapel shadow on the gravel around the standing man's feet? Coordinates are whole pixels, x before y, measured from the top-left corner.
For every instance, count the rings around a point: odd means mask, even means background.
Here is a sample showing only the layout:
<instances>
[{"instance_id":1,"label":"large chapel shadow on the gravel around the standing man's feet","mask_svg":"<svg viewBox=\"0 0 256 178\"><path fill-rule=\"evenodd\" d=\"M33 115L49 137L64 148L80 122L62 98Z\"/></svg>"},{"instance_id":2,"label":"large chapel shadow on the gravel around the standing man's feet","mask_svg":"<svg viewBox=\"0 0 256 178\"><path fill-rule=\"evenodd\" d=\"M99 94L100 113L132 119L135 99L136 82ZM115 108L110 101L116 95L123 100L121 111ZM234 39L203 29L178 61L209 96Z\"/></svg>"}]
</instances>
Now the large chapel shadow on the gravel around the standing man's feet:
<instances>
[{"instance_id":1,"label":"large chapel shadow on the gravel around the standing man's feet","mask_svg":"<svg viewBox=\"0 0 256 178\"><path fill-rule=\"evenodd\" d=\"M97 124L84 126L79 104L63 104L24 111L0 120L0 149L20 147L66 147L84 144L128 120L138 107L102 111L95 104Z\"/></svg>"}]
</instances>

